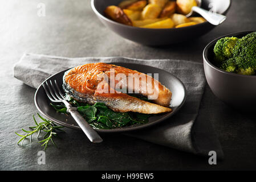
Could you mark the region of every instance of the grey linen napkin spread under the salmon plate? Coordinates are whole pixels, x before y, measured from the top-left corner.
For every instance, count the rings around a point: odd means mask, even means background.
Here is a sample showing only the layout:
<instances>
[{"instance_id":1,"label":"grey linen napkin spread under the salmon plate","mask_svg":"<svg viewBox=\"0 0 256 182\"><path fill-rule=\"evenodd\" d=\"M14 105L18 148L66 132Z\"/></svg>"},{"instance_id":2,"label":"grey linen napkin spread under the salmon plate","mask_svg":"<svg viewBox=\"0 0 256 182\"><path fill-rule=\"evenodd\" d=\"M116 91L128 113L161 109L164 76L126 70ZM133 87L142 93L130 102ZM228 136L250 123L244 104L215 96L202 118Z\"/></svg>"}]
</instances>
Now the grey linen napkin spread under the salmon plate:
<instances>
[{"instance_id":1,"label":"grey linen napkin spread under the salmon plate","mask_svg":"<svg viewBox=\"0 0 256 182\"><path fill-rule=\"evenodd\" d=\"M151 65L172 73L180 78L186 86L188 91L186 102L177 114L169 118L170 121L125 134L197 155L208 156L209 151L216 151L218 159L224 158L212 125L208 121L197 121L196 119L205 87L204 70L201 63L184 60L141 60L127 57L67 58L26 53L15 65L14 77L32 88L38 88L47 77L56 72L96 62Z\"/></svg>"}]
</instances>

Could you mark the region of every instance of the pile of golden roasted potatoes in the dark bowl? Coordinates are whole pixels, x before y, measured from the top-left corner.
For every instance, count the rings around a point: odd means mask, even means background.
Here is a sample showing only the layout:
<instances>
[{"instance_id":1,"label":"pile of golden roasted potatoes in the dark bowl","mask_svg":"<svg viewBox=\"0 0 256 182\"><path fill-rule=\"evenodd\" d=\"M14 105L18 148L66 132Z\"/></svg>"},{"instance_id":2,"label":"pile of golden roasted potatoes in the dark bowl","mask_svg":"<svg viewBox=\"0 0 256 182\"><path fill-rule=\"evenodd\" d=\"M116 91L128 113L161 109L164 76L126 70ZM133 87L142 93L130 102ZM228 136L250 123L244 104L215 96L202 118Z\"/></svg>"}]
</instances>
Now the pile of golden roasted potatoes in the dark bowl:
<instances>
[{"instance_id":1,"label":"pile of golden roasted potatoes in the dark bowl","mask_svg":"<svg viewBox=\"0 0 256 182\"><path fill-rule=\"evenodd\" d=\"M206 22L202 17L186 18L196 0L125 0L118 6L108 6L108 18L134 27L180 28Z\"/></svg>"}]
</instances>

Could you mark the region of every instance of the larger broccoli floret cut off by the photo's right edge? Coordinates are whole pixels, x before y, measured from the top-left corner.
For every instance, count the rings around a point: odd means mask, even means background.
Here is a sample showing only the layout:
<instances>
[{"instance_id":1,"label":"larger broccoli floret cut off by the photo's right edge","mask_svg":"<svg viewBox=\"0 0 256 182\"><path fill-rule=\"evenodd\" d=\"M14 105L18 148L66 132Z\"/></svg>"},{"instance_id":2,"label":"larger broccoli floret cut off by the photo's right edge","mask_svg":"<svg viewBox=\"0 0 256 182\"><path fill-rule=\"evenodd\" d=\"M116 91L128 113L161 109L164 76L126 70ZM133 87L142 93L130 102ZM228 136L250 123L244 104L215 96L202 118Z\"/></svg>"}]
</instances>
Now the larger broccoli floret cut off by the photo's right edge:
<instances>
[{"instance_id":1,"label":"larger broccoli floret cut off by the photo's right edge","mask_svg":"<svg viewBox=\"0 0 256 182\"><path fill-rule=\"evenodd\" d=\"M238 68L256 68L256 32L247 34L237 41L233 56Z\"/></svg>"}]
</instances>

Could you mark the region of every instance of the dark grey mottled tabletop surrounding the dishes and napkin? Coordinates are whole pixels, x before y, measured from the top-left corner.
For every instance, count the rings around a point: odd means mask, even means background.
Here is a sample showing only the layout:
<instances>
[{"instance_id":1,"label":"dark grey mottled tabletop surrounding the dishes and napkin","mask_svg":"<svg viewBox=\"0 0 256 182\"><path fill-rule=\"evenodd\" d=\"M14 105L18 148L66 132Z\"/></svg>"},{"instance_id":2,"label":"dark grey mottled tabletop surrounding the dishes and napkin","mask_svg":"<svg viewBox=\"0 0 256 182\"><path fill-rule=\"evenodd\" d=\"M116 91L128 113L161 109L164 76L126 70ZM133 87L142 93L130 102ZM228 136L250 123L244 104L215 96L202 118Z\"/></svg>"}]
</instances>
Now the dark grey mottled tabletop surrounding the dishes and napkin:
<instances>
[{"instance_id":1,"label":"dark grey mottled tabletop surrounding the dishes and napkin","mask_svg":"<svg viewBox=\"0 0 256 182\"><path fill-rule=\"evenodd\" d=\"M37 15L38 3L46 16ZM256 169L256 117L239 113L218 100L206 85L199 119L211 122L225 160L210 166L207 158L119 134L102 135L92 144L80 131L65 129L46 151L46 164L37 163L39 143L19 147L14 132L33 125L35 89L13 77L23 53L67 57L126 56L140 59L181 59L202 63L211 40L231 32L256 30L256 1L234 0L227 20L192 42L147 47L107 30L92 12L89 0L23 0L0 3L0 169L1 170L184 170ZM239 85L238 85L239 86ZM241 106L242 107L242 106Z\"/></svg>"}]
</instances>

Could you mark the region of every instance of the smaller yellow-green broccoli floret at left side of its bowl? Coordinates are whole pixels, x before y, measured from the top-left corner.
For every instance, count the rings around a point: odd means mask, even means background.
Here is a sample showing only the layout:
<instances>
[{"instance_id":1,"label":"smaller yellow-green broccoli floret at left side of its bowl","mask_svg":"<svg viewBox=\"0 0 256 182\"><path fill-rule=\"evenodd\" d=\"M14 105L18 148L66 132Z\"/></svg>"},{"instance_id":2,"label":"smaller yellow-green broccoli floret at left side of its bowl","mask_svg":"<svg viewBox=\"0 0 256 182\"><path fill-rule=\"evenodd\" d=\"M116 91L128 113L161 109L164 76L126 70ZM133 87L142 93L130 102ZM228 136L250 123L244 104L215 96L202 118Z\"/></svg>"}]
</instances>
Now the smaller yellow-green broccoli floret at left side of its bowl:
<instances>
[{"instance_id":1,"label":"smaller yellow-green broccoli floret at left side of its bowl","mask_svg":"<svg viewBox=\"0 0 256 182\"><path fill-rule=\"evenodd\" d=\"M235 43L237 43L237 40L238 38L225 37L217 41L213 49L214 59L217 64L221 64L227 58L233 56L233 48L235 46Z\"/></svg>"}]
</instances>

